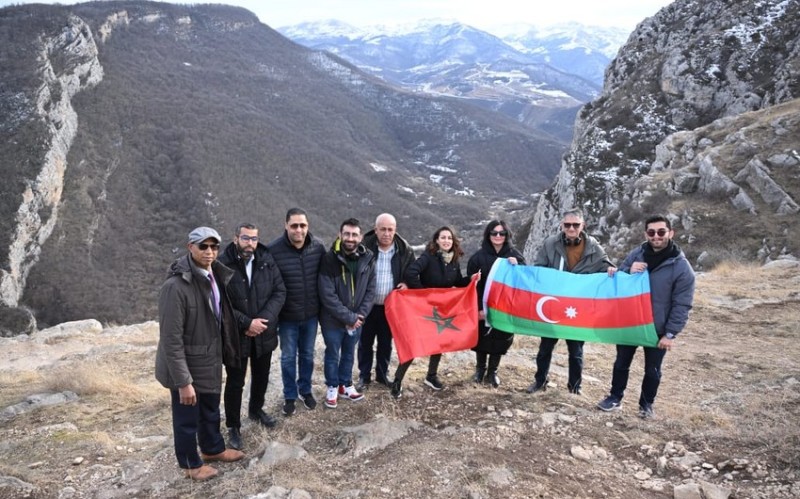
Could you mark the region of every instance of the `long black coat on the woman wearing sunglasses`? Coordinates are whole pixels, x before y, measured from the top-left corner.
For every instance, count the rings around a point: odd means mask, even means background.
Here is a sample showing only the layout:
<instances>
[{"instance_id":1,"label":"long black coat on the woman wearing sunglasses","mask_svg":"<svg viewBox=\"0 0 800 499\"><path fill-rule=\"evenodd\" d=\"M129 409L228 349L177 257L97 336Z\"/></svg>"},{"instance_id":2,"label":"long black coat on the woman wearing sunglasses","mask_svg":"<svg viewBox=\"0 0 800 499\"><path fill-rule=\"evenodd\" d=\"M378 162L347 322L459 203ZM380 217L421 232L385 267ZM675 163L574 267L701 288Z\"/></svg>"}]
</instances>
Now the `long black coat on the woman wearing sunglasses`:
<instances>
[{"instance_id":1,"label":"long black coat on the woman wearing sunglasses","mask_svg":"<svg viewBox=\"0 0 800 499\"><path fill-rule=\"evenodd\" d=\"M483 290L486 288L486 278L498 258L514 257L519 265L525 265L522 253L509 244L504 244L500 251L494 250L489 241L483 241L481 249L475 252L467 262L467 275L481 271L481 280L478 281L478 309L483 310ZM478 344L473 348L476 352L504 355L514 342L514 335L489 328L485 321L478 321Z\"/></svg>"}]
</instances>

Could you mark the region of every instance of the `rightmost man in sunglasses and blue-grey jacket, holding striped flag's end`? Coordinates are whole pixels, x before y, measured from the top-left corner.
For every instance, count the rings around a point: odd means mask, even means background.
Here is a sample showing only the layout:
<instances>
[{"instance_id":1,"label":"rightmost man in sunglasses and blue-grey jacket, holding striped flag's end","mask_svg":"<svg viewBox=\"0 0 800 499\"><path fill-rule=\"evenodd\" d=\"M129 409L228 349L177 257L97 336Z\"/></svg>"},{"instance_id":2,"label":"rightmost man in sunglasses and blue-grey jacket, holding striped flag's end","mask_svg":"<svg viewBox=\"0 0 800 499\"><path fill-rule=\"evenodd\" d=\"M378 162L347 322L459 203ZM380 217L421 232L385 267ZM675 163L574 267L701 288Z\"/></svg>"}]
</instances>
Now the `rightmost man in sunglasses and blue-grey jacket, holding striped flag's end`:
<instances>
[{"instance_id":1,"label":"rightmost man in sunglasses and blue-grey jacket, holding striped flag's end","mask_svg":"<svg viewBox=\"0 0 800 499\"><path fill-rule=\"evenodd\" d=\"M672 240L675 232L669 219L655 215L645 221L646 241L634 248L619 270L628 273L649 272L650 303L653 322L658 334L655 347L644 347L644 379L639 396L639 416L653 417L653 403L661 383L661 363L675 337L689 320L694 300L694 270L681 249ZM597 407L615 411L622 407L622 397L628 385L635 346L617 345L617 358L611 378L611 392Z\"/></svg>"}]
</instances>

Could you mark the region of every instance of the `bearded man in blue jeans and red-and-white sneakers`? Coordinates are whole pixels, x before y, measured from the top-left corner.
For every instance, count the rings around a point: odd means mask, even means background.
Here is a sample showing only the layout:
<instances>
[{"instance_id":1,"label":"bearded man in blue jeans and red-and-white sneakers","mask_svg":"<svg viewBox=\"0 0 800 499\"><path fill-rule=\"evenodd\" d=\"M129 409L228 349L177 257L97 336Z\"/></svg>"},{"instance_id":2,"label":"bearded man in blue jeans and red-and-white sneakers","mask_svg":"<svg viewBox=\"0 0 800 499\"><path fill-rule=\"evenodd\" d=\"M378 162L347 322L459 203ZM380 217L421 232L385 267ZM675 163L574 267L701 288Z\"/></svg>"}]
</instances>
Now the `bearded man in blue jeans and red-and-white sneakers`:
<instances>
[{"instance_id":1,"label":"bearded man in blue jeans and red-and-white sneakers","mask_svg":"<svg viewBox=\"0 0 800 499\"><path fill-rule=\"evenodd\" d=\"M325 407L338 398L362 400L353 386L353 360L364 318L375 299L375 256L361 244L361 224L349 218L339 238L322 258L319 298L320 327L325 339Z\"/></svg>"}]
</instances>

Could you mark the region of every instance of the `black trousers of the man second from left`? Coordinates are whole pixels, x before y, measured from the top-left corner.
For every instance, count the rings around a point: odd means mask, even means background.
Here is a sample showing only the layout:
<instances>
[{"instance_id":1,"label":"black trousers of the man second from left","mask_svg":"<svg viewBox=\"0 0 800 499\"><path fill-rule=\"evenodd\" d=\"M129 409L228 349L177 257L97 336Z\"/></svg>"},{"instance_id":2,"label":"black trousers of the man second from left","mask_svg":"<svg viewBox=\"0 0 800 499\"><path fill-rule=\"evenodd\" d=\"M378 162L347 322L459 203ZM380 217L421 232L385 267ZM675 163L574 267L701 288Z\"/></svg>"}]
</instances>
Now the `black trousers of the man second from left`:
<instances>
[{"instance_id":1,"label":"black trousers of the man second from left","mask_svg":"<svg viewBox=\"0 0 800 499\"><path fill-rule=\"evenodd\" d=\"M247 374L247 357L242 359L241 368L225 366L227 381L225 382L225 426L240 428L242 426L242 391ZM269 366L272 352L256 357L255 345L250 345L250 403L248 413L253 413L264 406L264 397L269 385Z\"/></svg>"}]
</instances>

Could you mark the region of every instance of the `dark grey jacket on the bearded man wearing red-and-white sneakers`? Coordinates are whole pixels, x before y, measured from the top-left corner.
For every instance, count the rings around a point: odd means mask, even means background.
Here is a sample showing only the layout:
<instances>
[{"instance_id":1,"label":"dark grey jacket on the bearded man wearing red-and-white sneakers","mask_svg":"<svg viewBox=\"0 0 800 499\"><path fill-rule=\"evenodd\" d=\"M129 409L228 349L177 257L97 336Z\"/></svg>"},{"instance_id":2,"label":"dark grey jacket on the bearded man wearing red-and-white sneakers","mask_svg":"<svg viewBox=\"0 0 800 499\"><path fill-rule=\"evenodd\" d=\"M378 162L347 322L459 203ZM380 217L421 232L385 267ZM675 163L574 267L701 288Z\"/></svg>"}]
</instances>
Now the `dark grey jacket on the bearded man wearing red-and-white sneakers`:
<instances>
[{"instance_id":1,"label":"dark grey jacket on the bearded man wearing red-and-white sneakers","mask_svg":"<svg viewBox=\"0 0 800 499\"><path fill-rule=\"evenodd\" d=\"M375 255L359 244L355 255L358 266L350 273L337 239L322 258L319 271L319 297L322 310L319 323L322 329L343 328L355 324L359 315L366 317L375 301Z\"/></svg>"}]
</instances>

